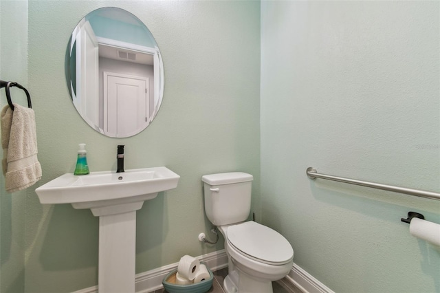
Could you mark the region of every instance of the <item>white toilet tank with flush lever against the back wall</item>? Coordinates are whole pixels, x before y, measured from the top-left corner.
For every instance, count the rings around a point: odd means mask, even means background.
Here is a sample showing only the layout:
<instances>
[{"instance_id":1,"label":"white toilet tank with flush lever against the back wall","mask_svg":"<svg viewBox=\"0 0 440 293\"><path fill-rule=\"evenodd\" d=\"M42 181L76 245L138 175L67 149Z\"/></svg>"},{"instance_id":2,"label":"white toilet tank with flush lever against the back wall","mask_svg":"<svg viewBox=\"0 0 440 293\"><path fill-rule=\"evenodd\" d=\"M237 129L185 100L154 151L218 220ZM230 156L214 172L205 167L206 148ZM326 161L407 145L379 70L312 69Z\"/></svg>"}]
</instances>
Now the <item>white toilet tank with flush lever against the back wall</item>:
<instances>
[{"instance_id":1,"label":"white toilet tank with flush lever against the back wall","mask_svg":"<svg viewBox=\"0 0 440 293\"><path fill-rule=\"evenodd\" d=\"M204 175L205 213L215 226L248 219L252 180L248 173L231 172Z\"/></svg>"}]
</instances>

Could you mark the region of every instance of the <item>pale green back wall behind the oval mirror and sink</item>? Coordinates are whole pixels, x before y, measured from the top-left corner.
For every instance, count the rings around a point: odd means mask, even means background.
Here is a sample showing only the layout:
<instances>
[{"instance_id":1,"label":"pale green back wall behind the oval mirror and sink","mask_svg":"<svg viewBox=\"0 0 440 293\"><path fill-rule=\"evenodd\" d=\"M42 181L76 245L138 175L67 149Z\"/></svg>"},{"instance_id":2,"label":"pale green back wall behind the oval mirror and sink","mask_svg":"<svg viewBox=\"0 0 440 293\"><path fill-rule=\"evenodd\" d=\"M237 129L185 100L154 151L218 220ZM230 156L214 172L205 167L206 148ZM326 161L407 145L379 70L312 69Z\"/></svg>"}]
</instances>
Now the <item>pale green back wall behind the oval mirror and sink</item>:
<instances>
[{"instance_id":1,"label":"pale green back wall behind the oval mirror and sink","mask_svg":"<svg viewBox=\"0 0 440 293\"><path fill-rule=\"evenodd\" d=\"M64 78L65 48L76 23L91 10L115 6L151 30L165 67L162 107L132 138L106 138L80 118ZM202 245L201 176L245 171L255 176L259 206L259 2L30 1L29 88L43 167L41 184L72 173L85 142L91 171L115 170L125 144L126 169L167 166L179 186L137 212L136 272L175 263L184 254L223 248ZM239 45L238 45L239 44ZM72 292L96 285L98 218L70 205L26 202L26 292ZM24 212L23 212L24 213Z\"/></svg>"}]
</instances>

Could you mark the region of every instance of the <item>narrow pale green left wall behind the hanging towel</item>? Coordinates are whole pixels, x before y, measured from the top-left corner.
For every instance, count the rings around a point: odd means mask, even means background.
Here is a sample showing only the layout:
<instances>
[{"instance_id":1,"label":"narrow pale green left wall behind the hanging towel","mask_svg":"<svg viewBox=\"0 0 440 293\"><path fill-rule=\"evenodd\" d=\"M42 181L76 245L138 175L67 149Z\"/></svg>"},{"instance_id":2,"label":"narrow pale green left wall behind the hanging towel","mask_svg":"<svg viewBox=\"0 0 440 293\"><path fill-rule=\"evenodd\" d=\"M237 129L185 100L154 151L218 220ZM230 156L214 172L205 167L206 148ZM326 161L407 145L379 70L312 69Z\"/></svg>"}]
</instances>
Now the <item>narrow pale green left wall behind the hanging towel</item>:
<instances>
[{"instance_id":1,"label":"narrow pale green left wall behind the hanging towel","mask_svg":"<svg viewBox=\"0 0 440 293\"><path fill-rule=\"evenodd\" d=\"M0 79L28 86L28 1L0 1ZM10 89L12 102L26 105L24 92ZM8 105L0 91L0 109ZM0 150L3 158L3 149ZM23 292L27 191L6 193L0 170L0 292Z\"/></svg>"}]
</instances>

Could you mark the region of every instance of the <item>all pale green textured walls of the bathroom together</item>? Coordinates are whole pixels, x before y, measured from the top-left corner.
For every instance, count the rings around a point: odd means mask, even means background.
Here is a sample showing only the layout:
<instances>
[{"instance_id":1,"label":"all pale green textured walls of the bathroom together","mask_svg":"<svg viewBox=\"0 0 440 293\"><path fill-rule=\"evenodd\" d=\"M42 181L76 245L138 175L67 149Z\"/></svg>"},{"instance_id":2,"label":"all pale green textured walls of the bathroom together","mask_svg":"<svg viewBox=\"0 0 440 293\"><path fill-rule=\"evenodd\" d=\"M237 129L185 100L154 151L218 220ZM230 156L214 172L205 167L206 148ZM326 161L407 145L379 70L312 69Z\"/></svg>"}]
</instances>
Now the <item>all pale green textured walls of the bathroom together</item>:
<instances>
[{"instance_id":1,"label":"all pale green textured walls of the bathroom together","mask_svg":"<svg viewBox=\"0 0 440 293\"><path fill-rule=\"evenodd\" d=\"M141 19L164 58L162 108L132 138L90 129L65 85L69 34L103 6ZM314 166L440 190L439 10L435 1L0 1L1 78L30 89L43 166L21 193L0 179L0 291L96 285L98 219L34 193L72 173L85 142L91 171L114 170L125 144L127 169L181 175L137 212L136 272L223 248L197 240L210 229L200 178L239 170L254 175L258 219L332 290L440 292L439 248L400 221L414 210L440 223L440 202L305 175Z\"/></svg>"}]
</instances>

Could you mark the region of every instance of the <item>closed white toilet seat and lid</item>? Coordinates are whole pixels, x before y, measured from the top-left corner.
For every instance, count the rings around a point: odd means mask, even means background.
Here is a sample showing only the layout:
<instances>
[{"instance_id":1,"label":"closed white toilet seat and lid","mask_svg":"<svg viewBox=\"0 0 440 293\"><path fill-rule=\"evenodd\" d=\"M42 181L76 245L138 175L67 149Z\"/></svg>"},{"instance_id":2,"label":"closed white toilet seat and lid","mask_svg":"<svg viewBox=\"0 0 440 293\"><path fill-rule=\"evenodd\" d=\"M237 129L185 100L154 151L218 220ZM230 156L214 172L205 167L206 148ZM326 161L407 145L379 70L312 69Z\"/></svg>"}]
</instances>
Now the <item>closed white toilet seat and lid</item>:
<instances>
[{"instance_id":1,"label":"closed white toilet seat and lid","mask_svg":"<svg viewBox=\"0 0 440 293\"><path fill-rule=\"evenodd\" d=\"M227 238L238 252L262 263L283 265L294 257L294 250L283 235L255 221L229 226Z\"/></svg>"}]
</instances>

